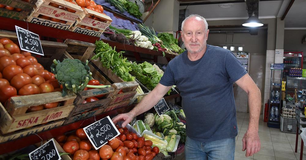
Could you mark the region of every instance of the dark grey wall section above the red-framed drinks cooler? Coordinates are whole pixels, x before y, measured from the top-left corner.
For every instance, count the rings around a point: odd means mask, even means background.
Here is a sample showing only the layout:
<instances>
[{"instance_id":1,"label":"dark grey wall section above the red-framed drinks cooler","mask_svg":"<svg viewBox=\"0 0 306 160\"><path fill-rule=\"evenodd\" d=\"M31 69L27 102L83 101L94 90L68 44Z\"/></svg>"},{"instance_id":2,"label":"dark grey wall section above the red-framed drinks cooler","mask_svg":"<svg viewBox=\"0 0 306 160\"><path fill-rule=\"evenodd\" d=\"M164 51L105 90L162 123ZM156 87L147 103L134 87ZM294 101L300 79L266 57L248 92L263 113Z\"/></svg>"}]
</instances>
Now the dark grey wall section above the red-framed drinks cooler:
<instances>
[{"instance_id":1,"label":"dark grey wall section above the red-framed drinks cooler","mask_svg":"<svg viewBox=\"0 0 306 160\"><path fill-rule=\"evenodd\" d=\"M284 51L304 52L306 57L306 44L302 44L302 38L306 35L305 30L285 30ZM306 62L303 62L303 68L306 69Z\"/></svg>"}]
</instances>

